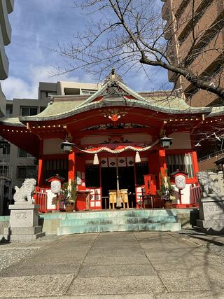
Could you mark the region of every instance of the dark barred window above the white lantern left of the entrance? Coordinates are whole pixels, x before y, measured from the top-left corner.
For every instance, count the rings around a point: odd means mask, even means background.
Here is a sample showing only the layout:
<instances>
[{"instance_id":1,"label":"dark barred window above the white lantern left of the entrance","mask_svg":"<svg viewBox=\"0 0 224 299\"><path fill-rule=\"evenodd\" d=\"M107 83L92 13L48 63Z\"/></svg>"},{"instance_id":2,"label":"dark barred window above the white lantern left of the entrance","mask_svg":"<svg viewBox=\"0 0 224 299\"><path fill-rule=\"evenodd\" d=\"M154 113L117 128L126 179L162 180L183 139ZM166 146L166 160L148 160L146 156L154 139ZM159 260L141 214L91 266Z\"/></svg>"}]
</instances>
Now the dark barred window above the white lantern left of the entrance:
<instances>
[{"instance_id":1,"label":"dark barred window above the white lantern left of the entrance","mask_svg":"<svg viewBox=\"0 0 224 299\"><path fill-rule=\"evenodd\" d=\"M43 160L43 181L59 174L65 181L68 181L68 160L67 159L49 159Z\"/></svg>"}]
</instances>

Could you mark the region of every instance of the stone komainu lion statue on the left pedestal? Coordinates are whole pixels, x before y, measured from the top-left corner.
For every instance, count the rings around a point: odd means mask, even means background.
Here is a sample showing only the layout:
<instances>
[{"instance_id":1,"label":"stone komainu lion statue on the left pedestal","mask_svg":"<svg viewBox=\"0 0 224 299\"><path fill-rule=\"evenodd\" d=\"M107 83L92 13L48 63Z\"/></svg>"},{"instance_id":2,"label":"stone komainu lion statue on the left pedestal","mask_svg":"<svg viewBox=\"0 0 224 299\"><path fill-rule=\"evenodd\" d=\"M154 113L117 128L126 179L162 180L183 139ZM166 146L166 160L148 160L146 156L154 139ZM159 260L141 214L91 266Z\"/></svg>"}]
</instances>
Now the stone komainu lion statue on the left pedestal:
<instances>
[{"instance_id":1,"label":"stone komainu lion statue on the left pedestal","mask_svg":"<svg viewBox=\"0 0 224 299\"><path fill-rule=\"evenodd\" d=\"M22 183L21 188L15 186L16 192L13 196L15 202L27 201L32 203L32 197L34 195L35 186L36 186L36 179L25 179L25 181Z\"/></svg>"}]
</instances>

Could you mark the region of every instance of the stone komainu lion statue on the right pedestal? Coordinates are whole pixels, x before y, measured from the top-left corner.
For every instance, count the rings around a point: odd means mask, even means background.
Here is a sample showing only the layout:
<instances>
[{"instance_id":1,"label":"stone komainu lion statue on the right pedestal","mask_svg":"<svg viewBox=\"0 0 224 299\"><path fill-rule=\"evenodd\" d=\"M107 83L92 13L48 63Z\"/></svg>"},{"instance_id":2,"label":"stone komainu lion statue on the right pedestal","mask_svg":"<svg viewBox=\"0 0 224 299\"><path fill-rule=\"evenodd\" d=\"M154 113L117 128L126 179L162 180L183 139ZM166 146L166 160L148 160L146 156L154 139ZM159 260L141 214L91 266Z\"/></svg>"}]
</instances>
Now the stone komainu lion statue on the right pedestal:
<instances>
[{"instance_id":1,"label":"stone komainu lion statue on the right pedestal","mask_svg":"<svg viewBox=\"0 0 224 299\"><path fill-rule=\"evenodd\" d=\"M198 172L197 179L202 188L202 197L222 197L221 188L218 187L218 179L211 179L208 172Z\"/></svg>"}]
</instances>

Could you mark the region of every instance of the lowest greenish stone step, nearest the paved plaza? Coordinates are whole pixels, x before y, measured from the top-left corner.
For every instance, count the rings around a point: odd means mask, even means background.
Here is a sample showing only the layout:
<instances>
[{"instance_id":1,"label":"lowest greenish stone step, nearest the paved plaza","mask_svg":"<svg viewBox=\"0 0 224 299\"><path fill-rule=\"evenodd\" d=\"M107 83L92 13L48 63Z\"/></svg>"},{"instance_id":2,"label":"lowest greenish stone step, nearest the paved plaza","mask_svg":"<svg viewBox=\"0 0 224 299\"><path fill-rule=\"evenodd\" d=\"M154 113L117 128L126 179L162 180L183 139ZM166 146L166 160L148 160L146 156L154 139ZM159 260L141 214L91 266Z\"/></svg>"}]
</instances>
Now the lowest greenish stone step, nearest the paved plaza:
<instances>
[{"instance_id":1,"label":"lowest greenish stone step, nearest the paved plaza","mask_svg":"<svg viewBox=\"0 0 224 299\"><path fill-rule=\"evenodd\" d=\"M61 226L57 229L57 235L79 234L84 232L116 232L116 231L140 231L140 230L181 230L181 223L144 223L144 224L105 224L105 225L72 225Z\"/></svg>"}]
</instances>

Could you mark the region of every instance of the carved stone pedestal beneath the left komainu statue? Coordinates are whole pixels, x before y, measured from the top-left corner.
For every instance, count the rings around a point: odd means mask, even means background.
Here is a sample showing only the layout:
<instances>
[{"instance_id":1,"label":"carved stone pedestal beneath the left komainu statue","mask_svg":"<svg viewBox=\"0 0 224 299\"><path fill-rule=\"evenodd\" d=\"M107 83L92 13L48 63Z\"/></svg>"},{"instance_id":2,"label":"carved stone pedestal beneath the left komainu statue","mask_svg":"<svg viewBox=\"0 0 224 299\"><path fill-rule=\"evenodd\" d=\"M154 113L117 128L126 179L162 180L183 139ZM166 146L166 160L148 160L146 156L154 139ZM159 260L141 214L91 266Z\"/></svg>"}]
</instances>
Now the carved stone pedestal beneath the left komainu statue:
<instances>
[{"instance_id":1,"label":"carved stone pedestal beneath the left komainu statue","mask_svg":"<svg viewBox=\"0 0 224 299\"><path fill-rule=\"evenodd\" d=\"M38 225L38 207L38 204L31 202L10 204L9 228L5 229L8 240L25 242L45 235L41 225Z\"/></svg>"}]
</instances>

